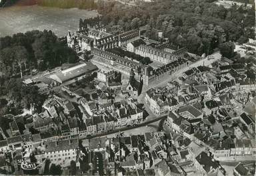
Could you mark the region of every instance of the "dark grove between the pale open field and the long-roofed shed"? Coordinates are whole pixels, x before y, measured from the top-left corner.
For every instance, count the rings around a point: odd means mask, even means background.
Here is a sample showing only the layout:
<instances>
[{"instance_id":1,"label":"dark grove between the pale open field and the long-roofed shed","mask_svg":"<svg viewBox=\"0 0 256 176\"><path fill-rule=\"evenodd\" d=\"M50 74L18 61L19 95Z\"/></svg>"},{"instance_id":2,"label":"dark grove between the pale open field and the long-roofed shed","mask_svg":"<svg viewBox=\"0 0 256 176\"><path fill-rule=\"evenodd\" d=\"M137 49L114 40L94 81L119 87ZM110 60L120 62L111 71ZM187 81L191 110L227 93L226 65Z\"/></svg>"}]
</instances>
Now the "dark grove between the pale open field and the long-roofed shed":
<instances>
[{"instance_id":1,"label":"dark grove between the pale open field and the long-roofed shed","mask_svg":"<svg viewBox=\"0 0 256 176\"><path fill-rule=\"evenodd\" d=\"M77 59L75 51L51 31L28 31L0 38L0 72L7 77L21 77L33 68L47 70Z\"/></svg>"}]
</instances>

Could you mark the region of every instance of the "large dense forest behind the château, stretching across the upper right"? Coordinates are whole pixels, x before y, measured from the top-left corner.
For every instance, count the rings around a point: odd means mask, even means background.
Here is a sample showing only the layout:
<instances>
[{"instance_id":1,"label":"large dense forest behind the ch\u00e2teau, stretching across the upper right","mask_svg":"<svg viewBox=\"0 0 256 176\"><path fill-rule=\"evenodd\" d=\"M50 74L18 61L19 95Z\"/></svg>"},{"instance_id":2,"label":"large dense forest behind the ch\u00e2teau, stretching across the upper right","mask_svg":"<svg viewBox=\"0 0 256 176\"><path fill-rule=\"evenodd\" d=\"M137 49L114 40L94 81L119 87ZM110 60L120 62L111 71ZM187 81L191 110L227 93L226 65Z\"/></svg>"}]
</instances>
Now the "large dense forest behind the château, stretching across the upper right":
<instances>
[{"instance_id":1,"label":"large dense forest behind the ch\u00e2teau, stretching across the upper right","mask_svg":"<svg viewBox=\"0 0 256 176\"><path fill-rule=\"evenodd\" d=\"M159 0L136 6L98 1L97 5L108 31L119 33L141 27L151 39L157 39L161 31L171 43L186 46L195 54L211 53L229 41L246 43L254 39L253 8L233 5L225 9L212 0ZM80 20L80 26L86 27L89 22Z\"/></svg>"}]
</instances>

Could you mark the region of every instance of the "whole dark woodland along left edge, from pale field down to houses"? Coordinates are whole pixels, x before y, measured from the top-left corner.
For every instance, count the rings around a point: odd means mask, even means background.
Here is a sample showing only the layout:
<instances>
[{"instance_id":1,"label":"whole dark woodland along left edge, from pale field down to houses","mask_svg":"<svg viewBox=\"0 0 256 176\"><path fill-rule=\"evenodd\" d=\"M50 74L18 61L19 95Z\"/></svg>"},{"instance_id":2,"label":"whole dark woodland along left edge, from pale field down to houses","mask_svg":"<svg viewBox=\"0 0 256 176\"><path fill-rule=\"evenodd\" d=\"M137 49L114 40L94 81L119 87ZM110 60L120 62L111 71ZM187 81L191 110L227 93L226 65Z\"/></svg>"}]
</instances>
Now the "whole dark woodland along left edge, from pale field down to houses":
<instances>
[{"instance_id":1,"label":"whole dark woodland along left edge, from pale field down to houses","mask_svg":"<svg viewBox=\"0 0 256 176\"><path fill-rule=\"evenodd\" d=\"M77 60L75 51L51 31L28 31L0 38L0 96L5 98L0 99L0 115L19 114L31 104L40 110L45 96L39 94L37 86L25 86L20 79L23 74ZM5 106L7 103L9 106Z\"/></svg>"}]
</instances>

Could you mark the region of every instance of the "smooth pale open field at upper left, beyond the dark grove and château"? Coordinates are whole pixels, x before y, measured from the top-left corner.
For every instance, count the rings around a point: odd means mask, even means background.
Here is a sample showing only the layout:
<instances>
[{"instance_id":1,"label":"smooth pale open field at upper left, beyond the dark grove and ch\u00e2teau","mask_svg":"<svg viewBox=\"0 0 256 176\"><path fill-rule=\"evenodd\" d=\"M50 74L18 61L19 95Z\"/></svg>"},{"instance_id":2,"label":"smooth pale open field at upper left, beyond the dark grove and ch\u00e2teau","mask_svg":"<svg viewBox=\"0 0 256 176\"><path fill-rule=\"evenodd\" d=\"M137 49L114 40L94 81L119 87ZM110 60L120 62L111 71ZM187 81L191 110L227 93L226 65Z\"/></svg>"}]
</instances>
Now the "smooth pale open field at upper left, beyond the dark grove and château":
<instances>
[{"instance_id":1,"label":"smooth pale open field at upper left, beyond the dark grove and ch\u00e2teau","mask_svg":"<svg viewBox=\"0 0 256 176\"><path fill-rule=\"evenodd\" d=\"M68 30L77 30L80 18L85 19L97 15L97 11L76 8L59 9L39 5L15 5L0 9L0 37L36 29L51 30L58 37L63 37Z\"/></svg>"}]
</instances>

